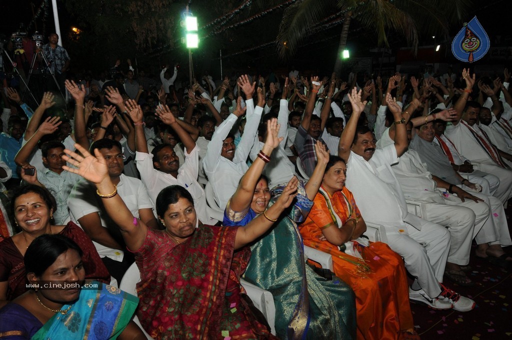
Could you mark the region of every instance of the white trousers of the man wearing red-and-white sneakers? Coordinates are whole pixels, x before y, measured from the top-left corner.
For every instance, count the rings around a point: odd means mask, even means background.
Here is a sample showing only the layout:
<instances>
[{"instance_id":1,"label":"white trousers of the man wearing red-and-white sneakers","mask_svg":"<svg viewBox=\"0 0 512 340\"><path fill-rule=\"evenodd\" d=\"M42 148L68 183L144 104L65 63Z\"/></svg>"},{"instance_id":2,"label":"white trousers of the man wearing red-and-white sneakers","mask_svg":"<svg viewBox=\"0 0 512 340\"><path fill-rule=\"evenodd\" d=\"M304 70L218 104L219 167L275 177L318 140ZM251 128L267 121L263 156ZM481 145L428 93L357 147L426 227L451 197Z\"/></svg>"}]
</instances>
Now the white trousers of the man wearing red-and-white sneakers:
<instances>
[{"instance_id":1,"label":"white trousers of the man wearing red-and-white sneakers","mask_svg":"<svg viewBox=\"0 0 512 340\"><path fill-rule=\"evenodd\" d=\"M406 223L409 235L387 232L388 245L403 257L406 268L432 299L441 293L450 233L442 225L421 220L421 230Z\"/></svg>"}]
</instances>

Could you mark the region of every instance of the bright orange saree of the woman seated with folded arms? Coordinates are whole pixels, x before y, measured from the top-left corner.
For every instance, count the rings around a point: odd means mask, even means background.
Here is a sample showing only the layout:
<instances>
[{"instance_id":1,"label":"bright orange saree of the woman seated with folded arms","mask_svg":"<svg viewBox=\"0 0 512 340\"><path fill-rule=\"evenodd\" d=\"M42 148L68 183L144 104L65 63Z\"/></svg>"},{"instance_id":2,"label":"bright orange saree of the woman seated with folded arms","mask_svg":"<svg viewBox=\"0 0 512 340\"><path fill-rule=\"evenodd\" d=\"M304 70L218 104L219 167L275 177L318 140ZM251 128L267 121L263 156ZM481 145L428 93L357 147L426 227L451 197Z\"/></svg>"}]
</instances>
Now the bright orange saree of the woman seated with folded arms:
<instances>
[{"instance_id":1,"label":"bright orange saree of the woman seated with folded arms","mask_svg":"<svg viewBox=\"0 0 512 340\"><path fill-rule=\"evenodd\" d=\"M353 242L363 261L327 240L321 241L323 227L334 223L330 228L336 228L349 218L360 219L361 214L347 188L333 196L319 192L306 221L299 227L304 244L331 254L334 273L354 290L358 339L402 338L403 330L414 327L402 258L381 242L370 243L368 247Z\"/></svg>"}]
</instances>

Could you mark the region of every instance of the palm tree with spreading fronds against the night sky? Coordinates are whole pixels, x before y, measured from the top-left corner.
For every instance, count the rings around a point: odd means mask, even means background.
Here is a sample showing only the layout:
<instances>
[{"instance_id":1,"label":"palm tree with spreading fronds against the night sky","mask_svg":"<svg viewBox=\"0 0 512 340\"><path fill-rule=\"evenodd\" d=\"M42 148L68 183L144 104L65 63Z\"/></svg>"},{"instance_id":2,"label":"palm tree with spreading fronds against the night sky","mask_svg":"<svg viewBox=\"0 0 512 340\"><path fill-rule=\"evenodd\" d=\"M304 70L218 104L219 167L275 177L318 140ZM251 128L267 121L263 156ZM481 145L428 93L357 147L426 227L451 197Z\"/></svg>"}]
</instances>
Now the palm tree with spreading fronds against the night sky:
<instances>
[{"instance_id":1,"label":"palm tree with spreading fronds against the night sky","mask_svg":"<svg viewBox=\"0 0 512 340\"><path fill-rule=\"evenodd\" d=\"M461 23L472 0L298 0L283 14L278 37L279 56L291 58L301 43L333 14L343 14L334 72L341 69L352 20L377 34L379 45L389 46L387 32L403 35L415 50L418 32L449 35L449 26Z\"/></svg>"}]
</instances>

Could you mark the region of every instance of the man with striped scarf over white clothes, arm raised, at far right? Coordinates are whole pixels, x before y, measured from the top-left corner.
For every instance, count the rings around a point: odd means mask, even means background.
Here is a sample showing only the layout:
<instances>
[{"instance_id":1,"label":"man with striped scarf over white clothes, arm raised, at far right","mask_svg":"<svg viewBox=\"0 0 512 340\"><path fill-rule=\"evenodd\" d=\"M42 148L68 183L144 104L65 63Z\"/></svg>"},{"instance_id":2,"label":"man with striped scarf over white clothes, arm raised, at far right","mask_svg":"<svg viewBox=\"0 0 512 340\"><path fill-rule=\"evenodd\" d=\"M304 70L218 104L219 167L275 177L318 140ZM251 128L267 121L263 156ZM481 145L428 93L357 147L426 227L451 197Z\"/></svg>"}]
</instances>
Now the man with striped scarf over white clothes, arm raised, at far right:
<instances>
[{"instance_id":1,"label":"man with striped scarf over white clothes, arm raised, at far right","mask_svg":"<svg viewBox=\"0 0 512 340\"><path fill-rule=\"evenodd\" d=\"M466 88L454 105L457 115L452 125L446 127L445 135L474 167L499 178L500 185L494 195L505 204L512 198L512 171L505 160L512 161L512 155L499 150L476 124L481 106L475 101L468 101L475 84L475 74L470 76L464 69L462 77Z\"/></svg>"}]
</instances>

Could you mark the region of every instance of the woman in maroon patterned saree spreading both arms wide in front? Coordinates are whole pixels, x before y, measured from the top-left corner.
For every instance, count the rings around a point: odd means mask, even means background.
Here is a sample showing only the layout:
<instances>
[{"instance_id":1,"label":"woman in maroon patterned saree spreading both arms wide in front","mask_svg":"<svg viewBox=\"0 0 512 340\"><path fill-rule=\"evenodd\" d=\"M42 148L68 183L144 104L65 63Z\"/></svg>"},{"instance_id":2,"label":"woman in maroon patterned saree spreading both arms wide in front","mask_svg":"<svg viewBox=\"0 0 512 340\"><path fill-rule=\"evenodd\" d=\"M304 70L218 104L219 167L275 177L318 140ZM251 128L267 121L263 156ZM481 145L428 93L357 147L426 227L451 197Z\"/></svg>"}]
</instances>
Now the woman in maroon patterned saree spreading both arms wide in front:
<instances>
[{"instance_id":1,"label":"woman in maroon patterned saree spreading both arms wide in front","mask_svg":"<svg viewBox=\"0 0 512 340\"><path fill-rule=\"evenodd\" d=\"M130 106L137 127L142 112L140 107ZM269 121L267 128L279 143L276 119ZM196 227L190 194L184 187L169 186L156 200L158 219L165 227L157 231L135 219L116 195L117 188L108 176L108 160L97 151L94 157L80 145L75 147L83 157L65 150L70 156L65 159L77 167L66 170L96 184L107 213L121 229L127 248L136 254L141 272L137 314L148 334L157 339L275 338L247 308L238 282L248 261L244 247L262 236L290 206L296 195L296 179L266 214L244 228Z\"/></svg>"}]
</instances>

